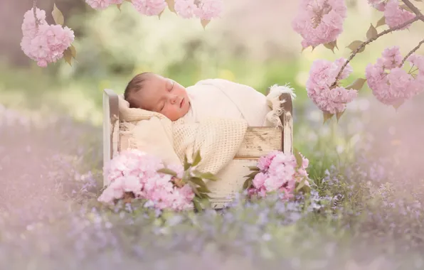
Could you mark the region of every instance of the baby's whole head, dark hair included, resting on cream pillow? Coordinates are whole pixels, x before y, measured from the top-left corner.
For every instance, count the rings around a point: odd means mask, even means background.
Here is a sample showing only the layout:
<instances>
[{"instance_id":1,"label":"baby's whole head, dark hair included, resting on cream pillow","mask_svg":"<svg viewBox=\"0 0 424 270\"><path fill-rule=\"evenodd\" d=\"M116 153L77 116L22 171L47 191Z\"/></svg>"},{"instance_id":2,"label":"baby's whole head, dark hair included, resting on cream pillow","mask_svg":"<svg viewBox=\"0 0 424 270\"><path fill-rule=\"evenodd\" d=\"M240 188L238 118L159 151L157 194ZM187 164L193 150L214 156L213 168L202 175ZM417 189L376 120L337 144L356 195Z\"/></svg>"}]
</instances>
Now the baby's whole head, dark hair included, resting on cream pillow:
<instances>
[{"instance_id":1,"label":"baby's whole head, dark hair included, resting on cream pillow","mask_svg":"<svg viewBox=\"0 0 424 270\"><path fill-rule=\"evenodd\" d=\"M159 112L171 121L184 117L190 108L186 88L152 72L132 78L125 89L124 98L131 108Z\"/></svg>"}]
</instances>

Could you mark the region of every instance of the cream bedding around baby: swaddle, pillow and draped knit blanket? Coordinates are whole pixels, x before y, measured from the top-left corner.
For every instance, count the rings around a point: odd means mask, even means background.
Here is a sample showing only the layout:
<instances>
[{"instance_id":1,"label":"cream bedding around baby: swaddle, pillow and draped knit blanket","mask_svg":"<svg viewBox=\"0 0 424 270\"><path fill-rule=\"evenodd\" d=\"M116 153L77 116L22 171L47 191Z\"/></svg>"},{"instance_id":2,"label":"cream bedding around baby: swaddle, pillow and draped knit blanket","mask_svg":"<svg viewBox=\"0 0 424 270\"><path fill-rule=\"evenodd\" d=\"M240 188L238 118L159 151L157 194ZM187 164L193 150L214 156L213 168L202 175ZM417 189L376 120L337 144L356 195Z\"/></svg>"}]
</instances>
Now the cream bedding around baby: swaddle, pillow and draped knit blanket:
<instances>
[{"instance_id":1,"label":"cream bedding around baby: swaddle, pillow and draped knit blanket","mask_svg":"<svg viewBox=\"0 0 424 270\"><path fill-rule=\"evenodd\" d=\"M248 126L280 125L279 97L295 95L290 87L271 87L270 94L221 79L203 80L187 87L191 109L170 121L162 114L129 108L120 97L121 150L139 148L165 163L182 163L200 150L199 171L218 173L235 156Z\"/></svg>"}]
</instances>

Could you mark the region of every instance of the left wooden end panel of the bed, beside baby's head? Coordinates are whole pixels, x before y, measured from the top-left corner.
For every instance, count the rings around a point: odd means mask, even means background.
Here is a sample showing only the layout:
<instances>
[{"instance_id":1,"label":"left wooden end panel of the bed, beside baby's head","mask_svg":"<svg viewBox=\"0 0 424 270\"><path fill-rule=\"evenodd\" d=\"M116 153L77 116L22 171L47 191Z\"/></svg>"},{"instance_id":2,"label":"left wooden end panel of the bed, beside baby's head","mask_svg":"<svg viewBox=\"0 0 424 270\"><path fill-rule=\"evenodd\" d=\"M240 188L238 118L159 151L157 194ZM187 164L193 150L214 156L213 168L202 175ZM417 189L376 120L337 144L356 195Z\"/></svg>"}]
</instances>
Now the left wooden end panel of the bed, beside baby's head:
<instances>
[{"instance_id":1,"label":"left wooden end panel of the bed, beside baby's head","mask_svg":"<svg viewBox=\"0 0 424 270\"><path fill-rule=\"evenodd\" d=\"M120 149L120 114L118 95L113 90L103 90L103 164L113 158ZM103 185L109 185L103 176Z\"/></svg>"}]
</instances>

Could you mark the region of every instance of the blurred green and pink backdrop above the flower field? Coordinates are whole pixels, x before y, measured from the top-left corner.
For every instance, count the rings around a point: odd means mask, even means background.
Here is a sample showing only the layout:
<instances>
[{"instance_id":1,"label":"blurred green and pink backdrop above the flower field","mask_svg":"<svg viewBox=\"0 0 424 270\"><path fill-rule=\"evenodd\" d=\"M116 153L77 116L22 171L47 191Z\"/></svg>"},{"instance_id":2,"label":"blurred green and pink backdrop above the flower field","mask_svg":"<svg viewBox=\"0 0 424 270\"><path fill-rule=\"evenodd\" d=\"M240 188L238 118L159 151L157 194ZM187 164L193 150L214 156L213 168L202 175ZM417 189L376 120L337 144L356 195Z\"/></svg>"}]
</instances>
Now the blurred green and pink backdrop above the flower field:
<instances>
[{"instance_id":1,"label":"blurred green and pink backdrop above the flower field","mask_svg":"<svg viewBox=\"0 0 424 270\"><path fill-rule=\"evenodd\" d=\"M417 2L414 2L417 3ZM115 6L96 11L85 1L57 0L65 25L75 31L78 62L70 67L61 60L48 68L38 68L20 48L23 13L32 1L1 1L0 4L0 100L7 107L59 110L75 119L101 122L101 98L105 87L123 89L137 72L152 71L169 76L184 86L198 80L221 77L250 85L264 92L274 84L290 84L298 95L296 120L309 117L314 105L307 99L305 83L313 60L348 58L351 41L364 40L370 23L382 13L366 0L346 0L349 7L339 50L332 53L319 46L301 53L300 36L291 21L298 1L225 1L222 18L203 30L195 19L184 20L166 10L161 19L141 16L129 3L122 11ZM422 4L418 3L418 6ZM51 11L53 0L40 1L41 9ZM387 45L399 45L407 53L422 38L423 23L409 31L398 31L379 38L351 62L354 74L346 84L364 77L368 63L375 62ZM378 31L386 26L378 28ZM423 48L418 50L422 53ZM367 96L368 87L361 91ZM310 107L312 112L304 113ZM318 119L318 117L313 117Z\"/></svg>"}]
</instances>

